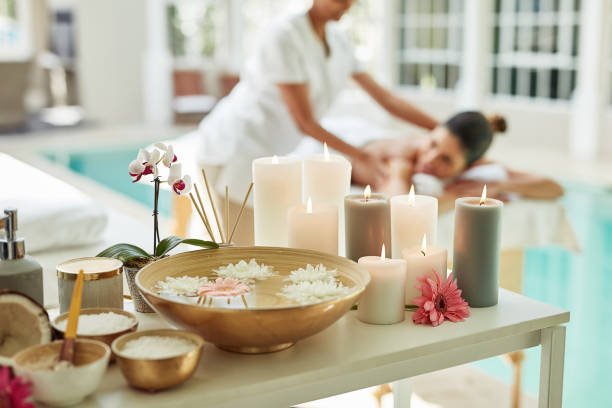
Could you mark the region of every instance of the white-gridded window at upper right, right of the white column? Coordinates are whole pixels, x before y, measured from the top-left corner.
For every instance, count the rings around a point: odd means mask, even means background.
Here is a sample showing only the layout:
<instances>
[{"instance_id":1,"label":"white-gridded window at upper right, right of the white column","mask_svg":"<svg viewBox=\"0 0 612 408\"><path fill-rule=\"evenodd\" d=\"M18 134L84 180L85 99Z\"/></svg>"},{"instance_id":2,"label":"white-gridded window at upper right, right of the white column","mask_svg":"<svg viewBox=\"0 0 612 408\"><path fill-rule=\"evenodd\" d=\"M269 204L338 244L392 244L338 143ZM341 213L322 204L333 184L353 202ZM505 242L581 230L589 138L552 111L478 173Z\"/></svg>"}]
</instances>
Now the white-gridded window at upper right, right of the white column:
<instances>
[{"instance_id":1,"label":"white-gridded window at upper right, right of the white column","mask_svg":"<svg viewBox=\"0 0 612 408\"><path fill-rule=\"evenodd\" d=\"M492 92L570 99L580 0L494 0Z\"/></svg>"}]
</instances>

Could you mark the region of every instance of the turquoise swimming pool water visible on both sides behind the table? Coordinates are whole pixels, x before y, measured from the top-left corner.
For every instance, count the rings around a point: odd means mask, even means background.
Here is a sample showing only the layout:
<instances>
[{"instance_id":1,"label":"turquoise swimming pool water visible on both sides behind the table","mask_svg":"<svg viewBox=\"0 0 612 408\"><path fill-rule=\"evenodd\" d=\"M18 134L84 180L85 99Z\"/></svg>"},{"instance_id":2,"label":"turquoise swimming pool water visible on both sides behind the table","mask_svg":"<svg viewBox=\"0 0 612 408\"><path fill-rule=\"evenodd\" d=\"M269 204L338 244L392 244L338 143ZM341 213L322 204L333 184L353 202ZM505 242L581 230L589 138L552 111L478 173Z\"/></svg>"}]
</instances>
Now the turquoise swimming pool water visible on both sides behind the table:
<instances>
[{"instance_id":1,"label":"turquoise swimming pool water visible on both sides behind the table","mask_svg":"<svg viewBox=\"0 0 612 408\"><path fill-rule=\"evenodd\" d=\"M44 152L59 162L127 197L152 208L153 189L132 184L127 167L138 147ZM561 248L529 248L525 254L523 293L571 311L568 325L564 406L612 406L606 392L612 381L612 191L572 182L563 183L563 202L583 251L572 254ZM160 212L169 214L170 194L162 191ZM510 383L512 371L500 358L475 363L477 367ZM523 390L537 395L539 348L527 350L523 365Z\"/></svg>"}]
</instances>

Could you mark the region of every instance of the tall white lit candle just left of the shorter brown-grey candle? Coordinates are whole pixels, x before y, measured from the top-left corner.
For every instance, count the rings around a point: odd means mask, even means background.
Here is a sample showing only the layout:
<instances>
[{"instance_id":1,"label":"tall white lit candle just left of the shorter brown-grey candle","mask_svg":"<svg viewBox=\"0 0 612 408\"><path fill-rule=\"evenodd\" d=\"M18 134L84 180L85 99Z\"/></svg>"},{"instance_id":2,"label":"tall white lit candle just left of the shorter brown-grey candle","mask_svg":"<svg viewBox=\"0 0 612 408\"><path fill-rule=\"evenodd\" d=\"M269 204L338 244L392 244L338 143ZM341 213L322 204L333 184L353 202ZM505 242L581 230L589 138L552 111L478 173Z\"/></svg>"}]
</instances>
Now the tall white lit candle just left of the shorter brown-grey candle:
<instances>
[{"instance_id":1,"label":"tall white lit candle just left of the shorter brown-grey candle","mask_svg":"<svg viewBox=\"0 0 612 408\"><path fill-rule=\"evenodd\" d=\"M303 166L304 197L338 209L338 248L340 255L344 255L344 196L351 189L351 162L342 156L330 155L324 144L323 154L304 159Z\"/></svg>"}]
</instances>

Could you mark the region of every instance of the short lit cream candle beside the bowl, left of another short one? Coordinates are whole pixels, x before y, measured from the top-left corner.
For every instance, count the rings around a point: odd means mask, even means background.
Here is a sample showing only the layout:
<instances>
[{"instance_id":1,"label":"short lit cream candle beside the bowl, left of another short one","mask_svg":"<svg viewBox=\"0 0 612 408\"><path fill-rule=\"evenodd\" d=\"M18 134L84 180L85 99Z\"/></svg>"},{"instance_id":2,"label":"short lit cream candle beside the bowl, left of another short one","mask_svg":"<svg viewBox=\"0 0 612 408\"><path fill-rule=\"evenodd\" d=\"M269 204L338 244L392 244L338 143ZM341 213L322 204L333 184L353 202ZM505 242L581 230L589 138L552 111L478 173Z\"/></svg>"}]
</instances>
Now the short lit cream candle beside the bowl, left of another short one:
<instances>
[{"instance_id":1,"label":"short lit cream candle beside the bowl, left of another short one","mask_svg":"<svg viewBox=\"0 0 612 408\"><path fill-rule=\"evenodd\" d=\"M404 320L406 261L381 256L359 258L359 265L370 274L370 283L359 299L357 317L370 324L393 324Z\"/></svg>"}]
</instances>

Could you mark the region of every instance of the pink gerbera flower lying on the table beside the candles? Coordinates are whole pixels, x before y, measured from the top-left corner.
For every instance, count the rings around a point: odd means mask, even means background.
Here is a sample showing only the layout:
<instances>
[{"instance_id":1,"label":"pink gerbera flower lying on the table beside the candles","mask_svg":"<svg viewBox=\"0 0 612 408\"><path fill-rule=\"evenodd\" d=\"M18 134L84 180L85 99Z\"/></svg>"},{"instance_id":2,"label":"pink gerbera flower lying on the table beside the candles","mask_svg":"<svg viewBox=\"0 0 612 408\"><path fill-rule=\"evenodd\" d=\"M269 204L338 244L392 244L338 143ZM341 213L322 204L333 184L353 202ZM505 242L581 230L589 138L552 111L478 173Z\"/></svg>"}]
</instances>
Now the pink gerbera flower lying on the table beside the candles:
<instances>
[{"instance_id":1,"label":"pink gerbera flower lying on the table beside the candles","mask_svg":"<svg viewBox=\"0 0 612 408\"><path fill-rule=\"evenodd\" d=\"M438 326L448 319L451 322L462 322L470 315L470 307L461 298L461 290L457 289L455 279L447 279L442 282L438 272L433 271L436 277L434 281L428 275L417 278L421 285L416 288L422 296L414 298L412 303L419 308L412 316L415 324L431 324Z\"/></svg>"}]
</instances>

